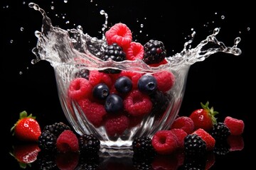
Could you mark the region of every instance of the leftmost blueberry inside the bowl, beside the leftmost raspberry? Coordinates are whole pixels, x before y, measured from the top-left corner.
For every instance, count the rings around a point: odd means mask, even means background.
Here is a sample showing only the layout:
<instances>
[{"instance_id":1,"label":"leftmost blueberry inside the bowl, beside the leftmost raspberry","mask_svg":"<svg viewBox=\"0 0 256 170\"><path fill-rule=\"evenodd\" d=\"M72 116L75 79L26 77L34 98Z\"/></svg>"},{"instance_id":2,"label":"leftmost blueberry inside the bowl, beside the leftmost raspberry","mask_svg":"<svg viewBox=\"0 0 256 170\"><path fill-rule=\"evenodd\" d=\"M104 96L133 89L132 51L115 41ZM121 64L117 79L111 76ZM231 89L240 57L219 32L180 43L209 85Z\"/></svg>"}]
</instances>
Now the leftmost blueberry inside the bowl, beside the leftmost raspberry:
<instances>
[{"instance_id":1,"label":"leftmost blueberry inside the bowl, beside the leftmost raspberry","mask_svg":"<svg viewBox=\"0 0 256 170\"><path fill-rule=\"evenodd\" d=\"M92 95L98 99L105 99L110 95L110 89L106 84L100 83L93 87Z\"/></svg>"}]
</instances>

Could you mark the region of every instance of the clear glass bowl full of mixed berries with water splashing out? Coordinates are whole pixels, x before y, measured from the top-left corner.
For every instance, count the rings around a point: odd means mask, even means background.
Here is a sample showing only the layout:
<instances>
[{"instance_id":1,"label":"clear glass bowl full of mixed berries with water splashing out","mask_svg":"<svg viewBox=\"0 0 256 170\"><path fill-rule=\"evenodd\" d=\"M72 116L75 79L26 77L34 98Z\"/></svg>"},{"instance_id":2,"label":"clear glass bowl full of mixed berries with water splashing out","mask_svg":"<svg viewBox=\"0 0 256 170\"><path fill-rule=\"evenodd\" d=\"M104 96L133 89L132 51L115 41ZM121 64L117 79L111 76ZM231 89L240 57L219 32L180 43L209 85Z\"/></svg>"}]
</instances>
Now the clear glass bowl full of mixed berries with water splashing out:
<instances>
[{"instance_id":1,"label":"clear glass bowl full of mixed berries with water splashing out","mask_svg":"<svg viewBox=\"0 0 256 170\"><path fill-rule=\"evenodd\" d=\"M50 62L68 122L79 135L95 135L105 148L131 148L136 137L169 129L181 107L191 65L215 52L241 53L240 38L226 47L215 38L218 28L195 48L190 45L193 33L180 53L168 56L159 40L134 41L124 23L102 29L100 39L83 33L81 26L54 27L43 9L30 6L43 16L32 63Z\"/></svg>"}]
</instances>

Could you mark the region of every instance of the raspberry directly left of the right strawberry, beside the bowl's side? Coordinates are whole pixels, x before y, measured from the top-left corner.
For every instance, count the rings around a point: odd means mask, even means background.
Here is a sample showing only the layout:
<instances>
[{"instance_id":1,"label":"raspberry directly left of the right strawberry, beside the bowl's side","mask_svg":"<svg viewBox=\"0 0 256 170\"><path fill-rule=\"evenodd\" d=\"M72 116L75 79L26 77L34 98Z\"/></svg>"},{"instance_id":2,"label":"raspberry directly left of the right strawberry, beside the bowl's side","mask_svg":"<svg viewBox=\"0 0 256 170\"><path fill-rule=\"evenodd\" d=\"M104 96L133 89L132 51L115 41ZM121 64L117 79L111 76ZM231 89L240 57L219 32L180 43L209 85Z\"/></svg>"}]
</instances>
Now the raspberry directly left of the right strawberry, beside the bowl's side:
<instances>
[{"instance_id":1,"label":"raspberry directly left of the right strawberry, beside the bowl's side","mask_svg":"<svg viewBox=\"0 0 256 170\"><path fill-rule=\"evenodd\" d=\"M191 134L194 130L193 120L188 116L180 116L174 120L171 129L182 129L187 134Z\"/></svg>"}]
</instances>

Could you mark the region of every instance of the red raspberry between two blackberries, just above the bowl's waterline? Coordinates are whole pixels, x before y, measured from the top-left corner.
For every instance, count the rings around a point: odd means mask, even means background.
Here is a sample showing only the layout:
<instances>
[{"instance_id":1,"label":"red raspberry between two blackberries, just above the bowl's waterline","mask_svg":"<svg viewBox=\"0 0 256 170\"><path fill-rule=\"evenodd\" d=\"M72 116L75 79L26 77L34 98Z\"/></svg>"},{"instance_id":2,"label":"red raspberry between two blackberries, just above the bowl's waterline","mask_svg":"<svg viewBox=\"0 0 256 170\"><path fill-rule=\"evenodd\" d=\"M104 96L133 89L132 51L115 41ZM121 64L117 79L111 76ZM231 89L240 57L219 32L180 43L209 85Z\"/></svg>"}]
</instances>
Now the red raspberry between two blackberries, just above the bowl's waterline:
<instances>
[{"instance_id":1,"label":"red raspberry between two blackberries, just above the bowl's waterline","mask_svg":"<svg viewBox=\"0 0 256 170\"><path fill-rule=\"evenodd\" d=\"M124 52L127 55L127 60L142 60L144 48L139 42L131 42L129 47L125 49Z\"/></svg>"}]
</instances>

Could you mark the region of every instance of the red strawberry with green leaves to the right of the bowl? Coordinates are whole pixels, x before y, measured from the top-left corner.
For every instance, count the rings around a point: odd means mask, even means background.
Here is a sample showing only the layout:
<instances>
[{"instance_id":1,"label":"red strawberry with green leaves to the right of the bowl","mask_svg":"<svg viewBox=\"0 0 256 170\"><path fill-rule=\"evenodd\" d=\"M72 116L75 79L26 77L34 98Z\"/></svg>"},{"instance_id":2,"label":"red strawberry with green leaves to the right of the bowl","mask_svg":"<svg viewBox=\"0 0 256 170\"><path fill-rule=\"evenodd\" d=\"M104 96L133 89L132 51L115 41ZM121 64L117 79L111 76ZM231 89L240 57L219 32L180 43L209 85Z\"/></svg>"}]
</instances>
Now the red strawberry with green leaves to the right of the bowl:
<instances>
[{"instance_id":1,"label":"red strawberry with green leaves to the right of the bowl","mask_svg":"<svg viewBox=\"0 0 256 170\"><path fill-rule=\"evenodd\" d=\"M201 103L202 108L198 108L189 115L189 118L193 120L195 130L201 128L209 132L213 125L217 123L215 115L218 112L213 111L213 107L209 108L209 102L207 101L205 105Z\"/></svg>"}]
</instances>

